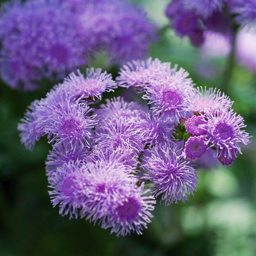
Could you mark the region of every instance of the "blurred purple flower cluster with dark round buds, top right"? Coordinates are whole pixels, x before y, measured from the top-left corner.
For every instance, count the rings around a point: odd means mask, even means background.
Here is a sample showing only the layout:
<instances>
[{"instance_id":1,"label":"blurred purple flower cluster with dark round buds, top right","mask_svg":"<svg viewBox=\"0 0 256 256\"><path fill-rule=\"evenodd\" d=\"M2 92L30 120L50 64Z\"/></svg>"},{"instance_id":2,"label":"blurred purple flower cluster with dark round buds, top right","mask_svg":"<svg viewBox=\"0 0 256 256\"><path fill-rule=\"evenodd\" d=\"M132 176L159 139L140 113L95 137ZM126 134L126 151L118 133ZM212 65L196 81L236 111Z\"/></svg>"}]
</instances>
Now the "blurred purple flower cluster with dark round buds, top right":
<instances>
[{"instance_id":1,"label":"blurred purple flower cluster with dark round buds, top right","mask_svg":"<svg viewBox=\"0 0 256 256\"><path fill-rule=\"evenodd\" d=\"M165 10L172 28L199 47L205 32L217 32L232 37L237 26L256 24L254 0L173 0ZM235 25L234 25L235 24Z\"/></svg>"}]
</instances>

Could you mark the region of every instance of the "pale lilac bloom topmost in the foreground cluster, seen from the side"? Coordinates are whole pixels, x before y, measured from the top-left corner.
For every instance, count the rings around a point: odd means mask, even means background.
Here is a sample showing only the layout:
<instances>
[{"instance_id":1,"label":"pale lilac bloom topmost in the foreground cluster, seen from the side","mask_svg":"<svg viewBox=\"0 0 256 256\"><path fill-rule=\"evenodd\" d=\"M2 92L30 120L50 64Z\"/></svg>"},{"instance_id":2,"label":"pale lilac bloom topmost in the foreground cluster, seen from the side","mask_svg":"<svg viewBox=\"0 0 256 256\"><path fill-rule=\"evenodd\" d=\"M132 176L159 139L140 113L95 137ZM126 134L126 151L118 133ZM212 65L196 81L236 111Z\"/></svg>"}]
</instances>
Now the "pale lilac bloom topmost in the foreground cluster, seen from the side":
<instances>
[{"instance_id":1,"label":"pale lilac bloom topmost in the foreground cluster, seen from the side","mask_svg":"<svg viewBox=\"0 0 256 256\"><path fill-rule=\"evenodd\" d=\"M120 69L116 82L121 87L134 86L138 91L143 91L150 80L157 80L162 74L172 73L170 62L161 62L158 59L133 60Z\"/></svg>"}]
</instances>

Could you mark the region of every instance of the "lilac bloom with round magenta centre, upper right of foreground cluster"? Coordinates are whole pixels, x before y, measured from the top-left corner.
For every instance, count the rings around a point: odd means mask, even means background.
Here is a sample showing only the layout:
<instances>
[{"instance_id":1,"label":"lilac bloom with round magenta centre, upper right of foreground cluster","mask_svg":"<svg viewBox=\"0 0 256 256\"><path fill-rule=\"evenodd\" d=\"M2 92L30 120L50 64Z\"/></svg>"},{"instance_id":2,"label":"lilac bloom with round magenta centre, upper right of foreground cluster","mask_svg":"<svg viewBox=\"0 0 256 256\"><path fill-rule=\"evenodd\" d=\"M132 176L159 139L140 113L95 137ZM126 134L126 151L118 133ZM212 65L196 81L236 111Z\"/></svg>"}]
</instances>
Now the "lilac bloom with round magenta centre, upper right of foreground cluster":
<instances>
[{"instance_id":1,"label":"lilac bloom with round magenta centre, upper right of foreground cluster","mask_svg":"<svg viewBox=\"0 0 256 256\"><path fill-rule=\"evenodd\" d=\"M184 97L193 91L192 80L187 76L188 72L180 68L173 75L152 81L146 87L146 94L142 98L149 100L148 104L151 104L154 114L174 121L185 116Z\"/></svg>"}]
</instances>

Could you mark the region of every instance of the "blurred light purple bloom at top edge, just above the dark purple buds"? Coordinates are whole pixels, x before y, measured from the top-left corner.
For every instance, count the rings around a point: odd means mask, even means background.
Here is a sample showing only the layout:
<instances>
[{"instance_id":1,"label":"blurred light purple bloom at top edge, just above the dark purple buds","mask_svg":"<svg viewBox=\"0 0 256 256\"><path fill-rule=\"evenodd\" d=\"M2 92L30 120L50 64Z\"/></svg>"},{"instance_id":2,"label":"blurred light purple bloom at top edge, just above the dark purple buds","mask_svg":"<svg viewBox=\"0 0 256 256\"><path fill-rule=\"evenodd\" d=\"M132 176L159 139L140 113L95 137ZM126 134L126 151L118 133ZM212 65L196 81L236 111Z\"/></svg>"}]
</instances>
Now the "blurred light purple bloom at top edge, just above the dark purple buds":
<instances>
[{"instance_id":1,"label":"blurred light purple bloom at top edge, just above the dark purple buds","mask_svg":"<svg viewBox=\"0 0 256 256\"><path fill-rule=\"evenodd\" d=\"M181 0L185 9L207 18L215 11L221 11L225 0Z\"/></svg>"}]
</instances>

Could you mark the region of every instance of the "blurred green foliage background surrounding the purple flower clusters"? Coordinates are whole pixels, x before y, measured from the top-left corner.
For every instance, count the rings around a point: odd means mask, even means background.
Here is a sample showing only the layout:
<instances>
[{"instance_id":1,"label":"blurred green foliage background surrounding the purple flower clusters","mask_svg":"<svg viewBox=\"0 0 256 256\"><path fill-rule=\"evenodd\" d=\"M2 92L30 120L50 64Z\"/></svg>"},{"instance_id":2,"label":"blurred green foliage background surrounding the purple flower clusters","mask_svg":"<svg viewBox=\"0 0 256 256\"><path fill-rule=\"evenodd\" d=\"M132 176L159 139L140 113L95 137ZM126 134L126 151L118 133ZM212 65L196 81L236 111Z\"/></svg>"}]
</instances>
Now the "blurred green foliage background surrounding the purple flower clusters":
<instances>
[{"instance_id":1,"label":"blurred green foliage background surrounding the purple flower clusters","mask_svg":"<svg viewBox=\"0 0 256 256\"><path fill-rule=\"evenodd\" d=\"M220 87L227 65L225 45L217 49L192 46L171 29L164 9L169 1L133 1L142 4L151 19L162 29L159 41L149 56L171 61L185 68L199 86ZM249 56L256 63L256 43L248 37ZM207 53L207 47L210 50ZM224 50L224 51L223 51ZM218 52L219 51L219 52ZM233 108L247 124L246 131L256 135L256 69L235 60L226 88ZM93 67L117 74L117 68L102 64ZM225 79L225 78L224 78ZM17 124L27 105L45 96L53 84L40 84L36 92L21 93L0 81L0 255L256 255L256 144L242 148L235 162L200 168L194 197L185 204L156 205L154 219L142 236L116 237L109 230L84 220L61 217L52 208L48 195L44 161L51 149L46 138L37 142L33 152L20 144ZM117 90L116 94L120 93ZM111 97L115 94L111 94ZM110 94L107 95L110 97Z\"/></svg>"}]
</instances>

